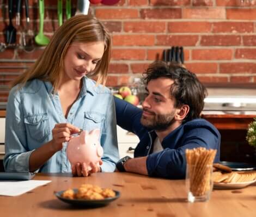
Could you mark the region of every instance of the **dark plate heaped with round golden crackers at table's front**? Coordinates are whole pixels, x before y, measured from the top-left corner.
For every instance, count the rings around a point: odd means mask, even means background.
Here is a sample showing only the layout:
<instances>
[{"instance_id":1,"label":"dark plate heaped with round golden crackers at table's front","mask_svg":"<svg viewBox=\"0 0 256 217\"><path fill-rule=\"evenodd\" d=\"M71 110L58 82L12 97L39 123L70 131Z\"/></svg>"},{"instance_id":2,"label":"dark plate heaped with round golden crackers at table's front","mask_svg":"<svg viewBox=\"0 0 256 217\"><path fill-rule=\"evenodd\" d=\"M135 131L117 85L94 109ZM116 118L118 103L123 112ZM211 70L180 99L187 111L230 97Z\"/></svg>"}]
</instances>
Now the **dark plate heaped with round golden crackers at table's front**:
<instances>
[{"instance_id":1,"label":"dark plate heaped with round golden crackers at table's front","mask_svg":"<svg viewBox=\"0 0 256 217\"><path fill-rule=\"evenodd\" d=\"M92 184L82 184L79 188L61 190L54 194L63 202L83 207L106 206L120 196L120 192L117 190L101 188Z\"/></svg>"}]
</instances>

